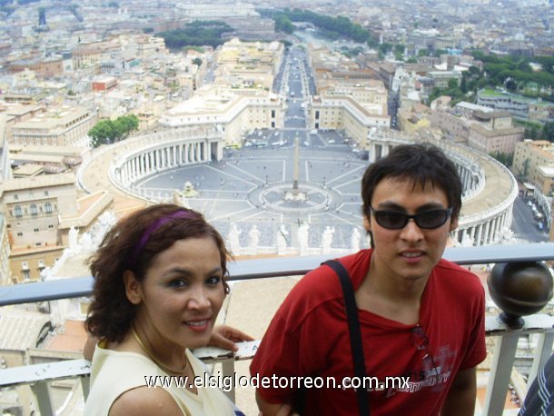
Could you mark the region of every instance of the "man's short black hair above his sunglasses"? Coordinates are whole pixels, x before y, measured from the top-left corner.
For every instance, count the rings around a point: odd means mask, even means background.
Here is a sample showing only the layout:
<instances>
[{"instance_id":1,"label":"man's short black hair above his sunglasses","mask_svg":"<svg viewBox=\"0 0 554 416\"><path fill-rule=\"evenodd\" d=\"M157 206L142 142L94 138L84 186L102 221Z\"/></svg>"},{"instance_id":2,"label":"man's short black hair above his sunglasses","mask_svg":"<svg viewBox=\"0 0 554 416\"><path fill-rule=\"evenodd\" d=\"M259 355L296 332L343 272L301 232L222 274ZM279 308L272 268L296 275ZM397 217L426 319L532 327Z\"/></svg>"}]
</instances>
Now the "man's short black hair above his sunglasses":
<instances>
[{"instance_id":1,"label":"man's short black hair above his sunglasses","mask_svg":"<svg viewBox=\"0 0 554 416\"><path fill-rule=\"evenodd\" d=\"M377 185L386 178L413 182L421 187L430 183L440 188L452 208L452 219L458 218L461 209L462 185L456 165L432 144L401 144L391 153L366 169L361 179L363 213L371 215L371 198Z\"/></svg>"}]
</instances>

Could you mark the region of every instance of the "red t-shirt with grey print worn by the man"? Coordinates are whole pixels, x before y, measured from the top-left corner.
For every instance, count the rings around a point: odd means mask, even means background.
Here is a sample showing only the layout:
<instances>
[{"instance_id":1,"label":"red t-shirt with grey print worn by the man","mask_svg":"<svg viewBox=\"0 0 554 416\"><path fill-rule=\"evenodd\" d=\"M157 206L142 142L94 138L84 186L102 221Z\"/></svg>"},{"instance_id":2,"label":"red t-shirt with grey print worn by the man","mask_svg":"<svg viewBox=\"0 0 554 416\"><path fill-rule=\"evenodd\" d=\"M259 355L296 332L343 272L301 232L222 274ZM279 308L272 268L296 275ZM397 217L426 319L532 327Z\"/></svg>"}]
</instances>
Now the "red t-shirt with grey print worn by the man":
<instances>
[{"instance_id":1,"label":"red t-shirt with grey print worn by the man","mask_svg":"<svg viewBox=\"0 0 554 416\"><path fill-rule=\"evenodd\" d=\"M371 250L340 259L354 290L369 270L370 259ZM485 359L484 305L479 279L441 260L421 298L419 325L424 335L414 329L416 325L359 310L366 375L388 382L377 389L377 380L366 384L371 414L439 414L458 371ZM334 381L336 387L307 389L302 416L357 414L355 389L345 387L343 381L353 377L354 370L341 283L331 268L309 272L292 289L268 327L250 370L252 377L286 378L276 381L281 387L258 389L265 401L292 401L296 388L285 388L285 381L303 384L294 376L321 377L312 379L314 385ZM406 379L387 381L387 377Z\"/></svg>"}]
</instances>

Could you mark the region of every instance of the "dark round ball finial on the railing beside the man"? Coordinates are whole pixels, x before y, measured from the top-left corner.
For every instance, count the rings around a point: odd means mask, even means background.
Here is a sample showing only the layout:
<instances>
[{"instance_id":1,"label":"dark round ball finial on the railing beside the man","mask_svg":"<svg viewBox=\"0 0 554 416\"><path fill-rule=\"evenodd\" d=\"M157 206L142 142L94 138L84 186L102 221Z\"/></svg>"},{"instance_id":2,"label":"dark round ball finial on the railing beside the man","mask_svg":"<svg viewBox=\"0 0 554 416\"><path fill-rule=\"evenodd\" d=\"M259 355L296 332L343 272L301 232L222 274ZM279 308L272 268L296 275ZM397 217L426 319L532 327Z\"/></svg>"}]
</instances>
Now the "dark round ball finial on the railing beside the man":
<instances>
[{"instance_id":1,"label":"dark round ball finial on the railing beside the man","mask_svg":"<svg viewBox=\"0 0 554 416\"><path fill-rule=\"evenodd\" d=\"M487 285L502 310L500 320L511 329L521 328L521 316L539 312L552 299L552 275L541 262L497 263Z\"/></svg>"}]
</instances>

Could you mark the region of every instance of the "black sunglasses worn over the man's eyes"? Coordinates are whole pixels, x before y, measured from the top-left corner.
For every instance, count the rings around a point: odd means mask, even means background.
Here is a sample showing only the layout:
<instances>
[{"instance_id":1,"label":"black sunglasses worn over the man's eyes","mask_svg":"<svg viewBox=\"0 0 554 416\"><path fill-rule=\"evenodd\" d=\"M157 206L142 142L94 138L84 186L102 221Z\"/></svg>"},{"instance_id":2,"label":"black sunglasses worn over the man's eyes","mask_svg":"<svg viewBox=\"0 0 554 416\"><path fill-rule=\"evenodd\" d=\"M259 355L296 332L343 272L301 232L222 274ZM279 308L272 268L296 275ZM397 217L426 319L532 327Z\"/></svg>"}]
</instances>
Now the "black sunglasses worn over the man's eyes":
<instances>
[{"instance_id":1,"label":"black sunglasses worn over the man's eyes","mask_svg":"<svg viewBox=\"0 0 554 416\"><path fill-rule=\"evenodd\" d=\"M400 211L374 210L371 208L371 213L375 217L375 221L381 227L389 230L401 230L406 224L413 219L420 228L433 229L439 228L447 222L452 213L452 208L446 210L429 210L415 215L401 213Z\"/></svg>"}]
</instances>

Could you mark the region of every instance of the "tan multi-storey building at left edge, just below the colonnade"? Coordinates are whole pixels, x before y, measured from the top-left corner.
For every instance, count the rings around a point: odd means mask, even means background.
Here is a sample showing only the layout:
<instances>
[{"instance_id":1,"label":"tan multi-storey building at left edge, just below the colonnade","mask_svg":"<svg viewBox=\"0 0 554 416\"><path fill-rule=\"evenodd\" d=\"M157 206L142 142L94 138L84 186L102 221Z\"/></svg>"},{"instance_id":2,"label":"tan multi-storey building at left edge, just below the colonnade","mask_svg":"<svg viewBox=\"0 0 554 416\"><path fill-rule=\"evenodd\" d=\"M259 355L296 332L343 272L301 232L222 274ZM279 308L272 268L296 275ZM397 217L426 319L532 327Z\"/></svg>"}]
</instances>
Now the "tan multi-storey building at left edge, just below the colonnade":
<instances>
[{"instance_id":1,"label":"tan multi-storey building at left edge, just below the colonnade","mask_svg":"<svg viewBox=\"0 0 554 416\"><path fill-rule=\"evenodd\" d=\"M80 197L73 173L5 181L0 192L13 282L39 279L67 247L70 229L86 232L113 203L107 192Z\"/></svg>"}]
</instances>

